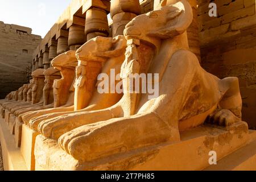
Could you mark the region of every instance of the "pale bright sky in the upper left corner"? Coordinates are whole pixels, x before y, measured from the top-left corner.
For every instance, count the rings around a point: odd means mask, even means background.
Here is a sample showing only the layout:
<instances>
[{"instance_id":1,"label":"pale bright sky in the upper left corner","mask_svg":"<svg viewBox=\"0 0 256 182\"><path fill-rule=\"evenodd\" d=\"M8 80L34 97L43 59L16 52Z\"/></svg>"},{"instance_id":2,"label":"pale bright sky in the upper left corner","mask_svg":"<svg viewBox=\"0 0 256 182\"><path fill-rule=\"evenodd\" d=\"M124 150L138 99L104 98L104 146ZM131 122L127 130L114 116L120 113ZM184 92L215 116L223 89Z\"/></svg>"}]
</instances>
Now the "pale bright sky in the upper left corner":
<instances>
[{"instance_id":1,"label":"pale bright sky in the upper left corner","mask_svg":"<svg viewBox=\"0 0 256 182\"><path fill-rule=\"evenodd\" d=\"M32 28L32 34L47 34L71 0L0 0L0 21Z\"/></svg>"}]
</instances>

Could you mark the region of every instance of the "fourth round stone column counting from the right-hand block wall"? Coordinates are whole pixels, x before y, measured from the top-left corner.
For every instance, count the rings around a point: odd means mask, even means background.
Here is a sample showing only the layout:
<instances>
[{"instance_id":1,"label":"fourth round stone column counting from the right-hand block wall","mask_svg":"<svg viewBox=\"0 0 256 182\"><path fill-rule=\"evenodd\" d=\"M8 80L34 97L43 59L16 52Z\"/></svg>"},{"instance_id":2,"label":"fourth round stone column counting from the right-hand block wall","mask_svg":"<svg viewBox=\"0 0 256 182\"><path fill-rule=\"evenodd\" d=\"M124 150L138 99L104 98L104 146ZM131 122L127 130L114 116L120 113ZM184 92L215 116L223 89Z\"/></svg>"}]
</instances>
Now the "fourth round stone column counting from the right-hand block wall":
<instances>
[{"instance_id":1,"label":"fourth round stone column counting from the right-hand block wall","mask_svg":"<svg viewBox=\"0 0 256 182\"><path fill-rule=\"evenodd\" d=\"M86 42L85 27L73 24L69 27L68 46L75 51Z\"/></svg>"}]
</instances>

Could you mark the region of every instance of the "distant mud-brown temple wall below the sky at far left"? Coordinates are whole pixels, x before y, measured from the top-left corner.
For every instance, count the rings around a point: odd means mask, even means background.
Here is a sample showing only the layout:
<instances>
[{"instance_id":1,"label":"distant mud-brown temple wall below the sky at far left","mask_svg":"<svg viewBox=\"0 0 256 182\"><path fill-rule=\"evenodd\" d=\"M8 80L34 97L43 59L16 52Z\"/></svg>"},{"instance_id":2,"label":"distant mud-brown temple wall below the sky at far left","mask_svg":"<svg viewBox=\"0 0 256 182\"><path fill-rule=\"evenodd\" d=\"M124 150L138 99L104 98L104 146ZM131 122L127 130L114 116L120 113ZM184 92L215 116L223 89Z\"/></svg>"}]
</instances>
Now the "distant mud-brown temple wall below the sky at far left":
<instances>
[{"instance_id":1,"label":"distant mud-brown temple wall below the sky at far left","mask_svg":"<svg viewBox=\"0 0 256 182\"><path fill-rule=\"evenodd\" d=\"M27 83L32 53L42 40L31 28L0 22L0 99Z\"/></svg>"}]
</instances>

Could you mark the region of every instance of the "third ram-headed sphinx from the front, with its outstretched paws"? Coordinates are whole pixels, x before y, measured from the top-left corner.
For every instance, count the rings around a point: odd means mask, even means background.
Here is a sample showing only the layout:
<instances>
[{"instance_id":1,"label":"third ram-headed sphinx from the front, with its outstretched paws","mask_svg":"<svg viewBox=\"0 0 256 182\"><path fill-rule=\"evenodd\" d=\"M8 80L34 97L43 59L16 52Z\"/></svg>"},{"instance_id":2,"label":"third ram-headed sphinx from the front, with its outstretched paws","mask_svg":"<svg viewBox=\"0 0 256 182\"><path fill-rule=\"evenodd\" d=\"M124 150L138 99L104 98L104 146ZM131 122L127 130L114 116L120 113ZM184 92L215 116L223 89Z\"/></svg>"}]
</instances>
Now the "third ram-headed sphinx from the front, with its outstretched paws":
<instances>
[{"instance_id":1,"label":"third ram-headed sphinx from the front, with its outstretched paws","mask_svg":"<svg viewBox=\"0 0 256 182\"><path fill-rule=\"evenodd\" d=\"M20 123L27 123L31 118L39 117L45 114L57 113L61 111L72 111L74 104L74 79L77 66L76 51L61 53L52 60L52 66L61 73L61 79L53 82L54 107L30 111L19 115Z\"/></svg>"}]
</instances>

